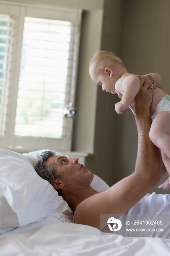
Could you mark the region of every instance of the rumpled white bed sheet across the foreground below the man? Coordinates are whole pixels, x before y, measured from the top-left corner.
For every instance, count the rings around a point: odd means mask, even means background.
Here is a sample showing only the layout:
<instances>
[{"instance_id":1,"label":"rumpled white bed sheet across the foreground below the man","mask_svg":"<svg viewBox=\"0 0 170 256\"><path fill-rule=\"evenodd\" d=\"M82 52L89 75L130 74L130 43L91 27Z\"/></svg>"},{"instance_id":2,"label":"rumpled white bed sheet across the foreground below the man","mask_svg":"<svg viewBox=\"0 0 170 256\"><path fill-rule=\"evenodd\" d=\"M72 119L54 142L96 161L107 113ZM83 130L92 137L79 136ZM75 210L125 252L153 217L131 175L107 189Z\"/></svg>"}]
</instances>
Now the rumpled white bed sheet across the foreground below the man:
<instances>
[{"instance_id":1,"label":"rumpled white bed sheet across the foreground below the man","mask_svg":"<svg viewBox=\"0 0 170 256\"><path fill-rule=\"evenodd\" d=\"M100 234L69 222L34 222L0 236L1 256L167 256L170 240Z\"/></svg>"}]
</instances>

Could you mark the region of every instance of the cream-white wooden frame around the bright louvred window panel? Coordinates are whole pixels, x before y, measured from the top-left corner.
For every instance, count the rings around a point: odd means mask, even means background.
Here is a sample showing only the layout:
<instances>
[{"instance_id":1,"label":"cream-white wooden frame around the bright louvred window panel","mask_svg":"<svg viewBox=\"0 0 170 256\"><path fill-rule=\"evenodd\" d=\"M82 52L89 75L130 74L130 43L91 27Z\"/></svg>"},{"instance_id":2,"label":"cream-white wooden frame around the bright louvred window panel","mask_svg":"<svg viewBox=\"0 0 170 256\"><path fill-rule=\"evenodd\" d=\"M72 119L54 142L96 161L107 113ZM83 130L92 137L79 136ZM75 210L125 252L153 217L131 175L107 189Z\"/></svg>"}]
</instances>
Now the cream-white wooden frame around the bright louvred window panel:
<instances>
[{"instance_id":1,"label":"cream-white wooden frame around the bright louvred window panel","mask_svg":"<svg viewBox=\"0 0 170 256\"><path fill-rule=\"evenodd\" d=\"M2 3L3 2L3 3ZM73 119L65 118L64 125L66 133L62 139L50 139L50 138L34 138L15 136L15 115L16 104L18 95L18 83L20 72L20 58L22 49L22 35L24 27L24 17L45 18L45 19L57 19L57 20L69 20L74 25L77 25L76 34L76 48L74 47L74 72L72 74L74 78L74 97L72 103L75 101L76 90L76 78L77 78L77 65L78 65L78 50L80 41L80 24L81 24L81 10L73 9L58 9L48 6L36 6L26 4L4 4L4 1L0 1L0 13L12 15L15 18L15 31L14 31L14 44L13 44L13 56L11 65L11 79L9 83L9 103L8 103L8 116L7 126L5 129L5 136L0 137L0 145L2 148L6 148L18 152L29 152L39 150L41 148L50 148L57 151L71 151L72 144L72 129ZM66 19L67 18L67 19ZM70 79L73 80L73 79ZM73 81L72 81L73 82ZM71 97L71 86L69 95ZM67 104L70 103L70 98Z\"/></svg>"}]
</instances>

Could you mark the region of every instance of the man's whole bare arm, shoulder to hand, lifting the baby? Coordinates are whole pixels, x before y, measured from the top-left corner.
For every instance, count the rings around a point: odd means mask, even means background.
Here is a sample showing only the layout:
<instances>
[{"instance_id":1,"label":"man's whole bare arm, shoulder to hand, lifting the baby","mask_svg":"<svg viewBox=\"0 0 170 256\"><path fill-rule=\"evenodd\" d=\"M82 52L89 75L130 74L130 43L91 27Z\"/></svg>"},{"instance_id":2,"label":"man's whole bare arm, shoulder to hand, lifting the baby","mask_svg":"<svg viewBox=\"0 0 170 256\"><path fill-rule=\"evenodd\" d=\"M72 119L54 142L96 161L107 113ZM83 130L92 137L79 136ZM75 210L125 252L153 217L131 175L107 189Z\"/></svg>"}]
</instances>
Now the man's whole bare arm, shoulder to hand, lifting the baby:
<instances>
[{"instance_id":1,"label":"man's whole bare arm, shoulder to hand, lifting the baby","mask_svg":"<svg viewBox=\"0 0 170 256\"><path fill-rule=\"evenodd\" d=\"M138 155L135 171L107 191L88 197L81 202L74 215L76 223L100 229L100 214L125 214L162 180L161 153L149 138L151 126L149 109L153 91L148 89L150 81L142 87L145 80L146 78L140 78L139 93L131 106L138 130Z\"/></svg>"}]
</instances>

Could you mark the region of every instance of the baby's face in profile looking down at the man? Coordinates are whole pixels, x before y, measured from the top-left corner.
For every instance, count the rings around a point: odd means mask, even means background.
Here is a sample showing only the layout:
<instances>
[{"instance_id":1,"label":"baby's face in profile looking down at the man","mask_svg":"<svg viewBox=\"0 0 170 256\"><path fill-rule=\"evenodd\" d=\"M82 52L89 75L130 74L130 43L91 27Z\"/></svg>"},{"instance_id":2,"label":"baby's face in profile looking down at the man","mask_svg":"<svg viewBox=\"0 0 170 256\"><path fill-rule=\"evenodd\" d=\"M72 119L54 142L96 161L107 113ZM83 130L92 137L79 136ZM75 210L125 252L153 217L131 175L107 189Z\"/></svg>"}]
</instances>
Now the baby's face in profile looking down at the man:
<instances>
[{"instance_id":1,"label":"baby's face in profile looking down at the man","mask_svg":"<svg viewBox=\"0 0 170 256\"><path fill-rule=\"evenodd\" d=\"M91 74L91 78L94 83L102 86L102 90L107 93L115 94L115 81L109 74Z\"/></svg>"}]
</instances>

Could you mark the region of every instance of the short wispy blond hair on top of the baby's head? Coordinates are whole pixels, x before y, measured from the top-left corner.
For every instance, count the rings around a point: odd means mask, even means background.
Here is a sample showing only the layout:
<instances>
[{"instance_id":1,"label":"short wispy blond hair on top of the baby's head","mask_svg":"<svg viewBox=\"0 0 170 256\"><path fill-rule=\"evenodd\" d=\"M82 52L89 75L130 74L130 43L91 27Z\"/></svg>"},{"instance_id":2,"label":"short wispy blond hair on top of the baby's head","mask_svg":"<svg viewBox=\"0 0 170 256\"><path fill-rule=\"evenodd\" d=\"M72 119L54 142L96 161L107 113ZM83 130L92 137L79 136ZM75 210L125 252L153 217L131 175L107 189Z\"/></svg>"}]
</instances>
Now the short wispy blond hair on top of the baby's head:
<instances>
[{"instance_id":1,"label":"short wispy blond hair on top of the baby's head","mask_svg":"<svg viewBox=\"0 0 170 256\"><path fill-rule=\"evenodd\" d=\"M94 53L92 59L90 60L89 73L90 76L93 74L100 74L104 72L106 67L114 68L115 64L119 64L124 67L123 61L116 57L112 52L108 51L98 51Z\"/></svg>"}]
</instances>

